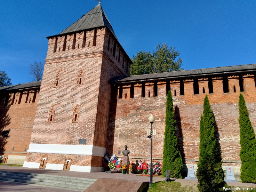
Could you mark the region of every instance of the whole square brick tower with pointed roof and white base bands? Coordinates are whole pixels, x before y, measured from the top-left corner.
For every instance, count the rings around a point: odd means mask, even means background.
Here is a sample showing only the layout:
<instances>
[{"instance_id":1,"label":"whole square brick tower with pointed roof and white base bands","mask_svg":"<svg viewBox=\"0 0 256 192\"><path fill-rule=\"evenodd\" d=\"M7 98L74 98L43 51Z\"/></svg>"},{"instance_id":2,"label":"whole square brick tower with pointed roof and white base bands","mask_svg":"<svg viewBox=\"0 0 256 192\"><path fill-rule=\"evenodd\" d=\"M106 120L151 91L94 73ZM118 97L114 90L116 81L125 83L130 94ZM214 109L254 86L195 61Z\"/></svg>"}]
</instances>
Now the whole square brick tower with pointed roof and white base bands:
<instances>
[{"instance_id":1,"label":"whole square brick tower with pointed roof and white base bands","mask_svg":"<svg viewBox=\"0 0 256 192\"><path fill-rule=\"evenodd\" d=\"M99 3L49 36L44 74L24 167L102 171L110 81L128 76L131 60Z\"/></svg>"}]
</instances>

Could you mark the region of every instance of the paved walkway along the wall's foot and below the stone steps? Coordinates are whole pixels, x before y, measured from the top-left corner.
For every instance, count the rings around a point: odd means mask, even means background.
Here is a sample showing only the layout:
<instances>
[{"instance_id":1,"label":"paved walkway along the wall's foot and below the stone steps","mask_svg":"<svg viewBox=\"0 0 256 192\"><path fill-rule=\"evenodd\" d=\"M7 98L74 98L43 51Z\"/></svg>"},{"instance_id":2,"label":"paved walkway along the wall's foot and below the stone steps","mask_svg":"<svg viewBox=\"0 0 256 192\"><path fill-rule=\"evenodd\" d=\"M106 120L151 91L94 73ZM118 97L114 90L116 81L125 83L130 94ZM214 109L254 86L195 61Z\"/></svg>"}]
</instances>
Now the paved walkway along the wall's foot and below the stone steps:
<instances>
[{"instance_id":1,"label":"paved walkway along the wall's foot and below the stone steps","mask_svg":"<svg viewBox=\"0 0 256 192\"><path fill-rule=\"evenodd\" d=\"M142 181L149 182L150 177L140 176L137 174L128 174L124 175L122 173L105 173L105 172L95 172L95 173L86 173L86 172L73 172L73 171L59 171L59 170L49 170L49 169L34 169L34 168L26 168L26 167L15 167L15 166L4 166L0 165L0 170L6 171L17 171L17 172L29 172L29 173L39 173L39 174L48 174L48 175L62 175L69 177L80 177L80 178L88 178L88 179L119 179L119 180L131 180L131 181ZM153 183L158 181L164 181L163 177L153 177ZM185 184L187 182L195 182L197 184L197 180L190 179L176 179L175 181L180 182L181 184ZM239 187L255 187L256 184L252 183L240 183L240 182L227 182L229 186L239 186ZM64 190L64 189L56 189L56 188L46 188L46 187L37 187L31 185L23 185L16 184L10 182L0 182L1 191L6 192L37 192L37 191L47 191L47 192L75 192L72 190Z\"/></svg>"}]
</instances>

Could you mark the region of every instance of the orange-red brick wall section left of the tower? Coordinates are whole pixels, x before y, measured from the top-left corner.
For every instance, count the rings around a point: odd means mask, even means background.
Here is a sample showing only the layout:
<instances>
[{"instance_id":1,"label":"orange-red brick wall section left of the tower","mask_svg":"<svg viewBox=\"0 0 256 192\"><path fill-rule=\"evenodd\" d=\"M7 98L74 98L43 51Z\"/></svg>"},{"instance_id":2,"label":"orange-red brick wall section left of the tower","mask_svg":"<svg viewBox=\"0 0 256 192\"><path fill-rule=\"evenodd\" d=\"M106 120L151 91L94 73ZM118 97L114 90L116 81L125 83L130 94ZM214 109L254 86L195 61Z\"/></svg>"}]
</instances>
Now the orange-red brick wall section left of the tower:
<instances>
[{"instance_id":1,"label":"orange-red brick wall section left of the tower","mask_svg":"<svg viewBox=\"0 0 256 192\"><path fill-rule=\"evenodd\" d=\"M36 114L36 106L39 96L39 89L36 89L36 99L33 101L34 89L22 90L9 93L9 102L7 106L1 106L1 131L0 135L2 136L2 131L8 131L8 137L1 137L0 147L4 151L0 155L27 155L25 148L28 150L31 132L34 122L34 117ZM20 96L21 94L21 96ZM28 94L28 101L26 103L26 98ZM5 99L4 94L1 94L2 99ZM13 99L14 97L14 99ZM30 99L30 100L29 100ZM19 103L20 100L20 103ZM13 104L12 104L13 103ZM6 126L2 127L3 119L6 123ZM12 150L14 147L14 150Z\"/></svg>"}]
</instances>

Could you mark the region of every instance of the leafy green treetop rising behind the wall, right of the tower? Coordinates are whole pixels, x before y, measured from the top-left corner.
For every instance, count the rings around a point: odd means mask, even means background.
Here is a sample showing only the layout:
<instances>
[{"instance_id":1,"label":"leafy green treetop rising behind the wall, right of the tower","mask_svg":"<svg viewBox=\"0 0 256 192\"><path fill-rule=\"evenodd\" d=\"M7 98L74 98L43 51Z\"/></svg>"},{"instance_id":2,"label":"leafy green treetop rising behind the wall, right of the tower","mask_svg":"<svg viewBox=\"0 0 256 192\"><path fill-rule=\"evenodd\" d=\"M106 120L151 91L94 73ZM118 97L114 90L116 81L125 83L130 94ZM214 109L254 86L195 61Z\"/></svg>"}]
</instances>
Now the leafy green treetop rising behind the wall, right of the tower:
<instances>
[{"instance_id":1,"label":"leafy green treetop rising behind the wall, right of the tower","mask_svg":"<svg viewBox=\"0 0 256 192\"><path fill-rule=\"evenodd\" d=\"M175 47L168 47L167 44L158 44L156 51L137 52L137 55L132 58L130 75L142 75L151 73L163 73L169 71L184 70L181 68L182 60L179 58L179 52L175 51Z\"/></svg>"}]
</instances>

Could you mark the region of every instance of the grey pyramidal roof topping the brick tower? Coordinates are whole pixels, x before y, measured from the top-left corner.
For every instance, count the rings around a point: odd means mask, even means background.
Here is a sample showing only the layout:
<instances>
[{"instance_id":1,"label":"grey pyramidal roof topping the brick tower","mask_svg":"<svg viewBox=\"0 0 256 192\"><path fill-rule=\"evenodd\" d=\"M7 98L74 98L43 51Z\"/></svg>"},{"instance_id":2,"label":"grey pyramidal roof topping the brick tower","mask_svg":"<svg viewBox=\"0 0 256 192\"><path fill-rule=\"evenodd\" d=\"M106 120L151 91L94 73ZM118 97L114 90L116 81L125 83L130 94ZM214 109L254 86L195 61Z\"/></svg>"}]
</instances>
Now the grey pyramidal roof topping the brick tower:
<instances>
[{"instance_id":1,"label":"grey pyramidal roof topping the brick tower","mask_svg":"<svg viewBox=\"0 0 256 192\"><path fill-rule=\"evenodd\" d=\"M116 37L112 25L110 24L106 13L104 12L103 8L101 7L101 4L99 3L91 11L85 13L79 20L77 20L68 28L60 32L58 35L100 27L108 27L109 30L113 33L113 35Z\"/></svg>"}]
</instances>

